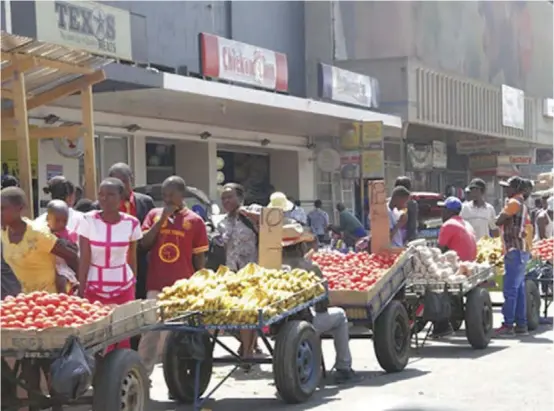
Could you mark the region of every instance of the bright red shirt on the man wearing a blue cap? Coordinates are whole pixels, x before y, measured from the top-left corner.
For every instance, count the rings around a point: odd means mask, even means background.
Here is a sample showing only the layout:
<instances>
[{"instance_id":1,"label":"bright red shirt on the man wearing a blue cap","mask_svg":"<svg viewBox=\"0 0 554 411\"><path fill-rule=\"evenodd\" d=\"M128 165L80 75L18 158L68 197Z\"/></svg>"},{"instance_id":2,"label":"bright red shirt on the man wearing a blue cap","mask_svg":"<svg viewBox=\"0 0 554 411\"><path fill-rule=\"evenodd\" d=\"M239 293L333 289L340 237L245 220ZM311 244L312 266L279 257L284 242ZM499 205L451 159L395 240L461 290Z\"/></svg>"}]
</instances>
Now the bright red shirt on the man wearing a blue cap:
<instances>
[{"instance_id":1,"label":"bright red shirt on the man wearing a blue cap","mask_svg":"<svg viewBox=\"0 0 554 411\"><path fill-rule=\"evenodd\" d=\"M477 258L473 228L460 216L451 217L442 225L438 243L440 247L456 251L462 261L474 261Z\"/></svg>"}]
</instances>

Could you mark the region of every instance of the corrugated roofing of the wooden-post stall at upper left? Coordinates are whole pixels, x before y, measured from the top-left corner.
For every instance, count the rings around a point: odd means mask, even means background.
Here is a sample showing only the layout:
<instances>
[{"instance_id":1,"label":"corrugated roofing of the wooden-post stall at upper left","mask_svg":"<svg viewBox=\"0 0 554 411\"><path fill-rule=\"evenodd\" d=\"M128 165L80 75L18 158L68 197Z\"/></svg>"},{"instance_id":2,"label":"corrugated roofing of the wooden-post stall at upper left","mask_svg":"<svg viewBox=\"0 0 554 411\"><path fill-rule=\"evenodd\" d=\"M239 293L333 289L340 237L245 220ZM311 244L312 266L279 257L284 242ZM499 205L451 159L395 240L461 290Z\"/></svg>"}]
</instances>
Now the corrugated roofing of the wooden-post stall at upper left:
<instances>
[{"instance_id":1,"label":"corrugated roofing of the wooden-post stall at upper left","mask_svg":"<svg viewBox=\"0 0 554 411\"><path fill-rule=\"evenodd\" d=\"M40 57L56 62L63 62L75 67L84 67L94 70L113 62L113 59L96 56L87 51L44 43L29 37L9 34L2 31L2 69L11 64L10 60L6 59L4 53L17 53L22 56ZM56 68L38 66L25 72L25 86L27 93L36 95L79 77L81 77L80 74L71 74ZM9 89L10 82L11 79L2 79L2 88Z\"/></svg>"}]
</instances>

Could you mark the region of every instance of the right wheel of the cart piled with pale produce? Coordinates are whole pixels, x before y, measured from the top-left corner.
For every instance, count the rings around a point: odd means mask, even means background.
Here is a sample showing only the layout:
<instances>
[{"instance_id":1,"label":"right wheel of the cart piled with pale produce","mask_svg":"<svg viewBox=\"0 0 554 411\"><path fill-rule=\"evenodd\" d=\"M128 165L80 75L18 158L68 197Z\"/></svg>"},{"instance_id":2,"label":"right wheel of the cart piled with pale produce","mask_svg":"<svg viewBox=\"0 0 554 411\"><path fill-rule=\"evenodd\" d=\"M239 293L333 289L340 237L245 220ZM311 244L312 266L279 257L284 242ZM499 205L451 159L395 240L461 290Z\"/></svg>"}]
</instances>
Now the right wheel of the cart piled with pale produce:
<instances>
[{"instance_id":1,"label":"right wheel of the cart piled with pale produce","mask_svg":"<svg viewBox=\"0 0 554 411\"><path fill-rule=\"evenodd\" d=\"M488 290L477 287L467 294L466 337L475 349L487 348L492 337L492 303Z\"/></svg>"}]
</instances>

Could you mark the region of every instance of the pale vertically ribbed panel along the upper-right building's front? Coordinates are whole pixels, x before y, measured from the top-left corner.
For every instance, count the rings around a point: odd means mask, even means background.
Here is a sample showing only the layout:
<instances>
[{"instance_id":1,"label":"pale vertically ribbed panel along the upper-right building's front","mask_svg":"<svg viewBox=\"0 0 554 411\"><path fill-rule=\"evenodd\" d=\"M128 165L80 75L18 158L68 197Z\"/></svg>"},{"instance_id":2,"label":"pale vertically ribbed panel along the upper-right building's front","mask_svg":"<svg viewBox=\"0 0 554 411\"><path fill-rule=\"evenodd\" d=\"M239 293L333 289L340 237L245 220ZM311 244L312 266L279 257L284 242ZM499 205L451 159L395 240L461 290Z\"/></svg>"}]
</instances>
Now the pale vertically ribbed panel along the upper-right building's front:
<instances>
[{"instance_id":1,"label":"pale vertically ribbed panel along the upper-right building's front","mask_svg":"<svg viewBox=\"0 0 554 411\"><path fill-rule=\"evenodd\" d=\"M502 138L533 140L534 104L525 97L524 130L502 125L499 87L440 73L424 67L412 71L416 85L414 123Z\"/></svg>"}]
</instances>

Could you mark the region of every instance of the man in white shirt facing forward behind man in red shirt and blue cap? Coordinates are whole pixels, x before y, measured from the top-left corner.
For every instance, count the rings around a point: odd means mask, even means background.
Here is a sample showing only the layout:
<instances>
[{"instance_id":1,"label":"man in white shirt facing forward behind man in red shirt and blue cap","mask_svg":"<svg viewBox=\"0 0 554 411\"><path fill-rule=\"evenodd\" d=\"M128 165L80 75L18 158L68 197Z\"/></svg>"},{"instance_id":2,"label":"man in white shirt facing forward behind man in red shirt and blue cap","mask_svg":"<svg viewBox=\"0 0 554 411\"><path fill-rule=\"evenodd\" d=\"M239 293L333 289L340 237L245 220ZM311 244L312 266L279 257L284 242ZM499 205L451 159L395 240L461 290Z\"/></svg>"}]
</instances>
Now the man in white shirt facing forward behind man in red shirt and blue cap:
<instances>
[{"instance_id":1,"label":"man in white shirt facing forward behind man in red shirt and blue cap","mask_svg":"<svg viewBox=\"0 0 554 411\"><path fill-rule=\"evenodd\" d=\"M475 231L477 241L482 237L498 236L496 212L494 207L485 201L486 183L480 178L474 178L467 190L468 200L462 206L460 216L467 221Z\"/></svg>"}]
</instances>

